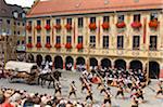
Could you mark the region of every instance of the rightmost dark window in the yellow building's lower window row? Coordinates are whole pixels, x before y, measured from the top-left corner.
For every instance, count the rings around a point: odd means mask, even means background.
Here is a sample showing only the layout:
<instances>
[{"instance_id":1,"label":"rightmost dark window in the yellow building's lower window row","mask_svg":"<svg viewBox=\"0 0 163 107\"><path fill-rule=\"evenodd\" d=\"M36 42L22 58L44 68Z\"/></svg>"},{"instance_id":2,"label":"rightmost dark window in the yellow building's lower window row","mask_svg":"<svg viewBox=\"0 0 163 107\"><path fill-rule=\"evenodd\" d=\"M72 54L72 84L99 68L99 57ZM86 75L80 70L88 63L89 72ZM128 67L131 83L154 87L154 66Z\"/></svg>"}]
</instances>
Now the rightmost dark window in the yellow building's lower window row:
<instances>
[{"instance_id":1,"label":"rightmost dark window in the yellow building's lower window row","mask_svg":"<svg viewBox=\"0 0 163 107\"><path fill-rule=\"evenodd\" d=\"M158 36L150 36L150 45L149 45L149 49L151 51L154 51L156 50L156 43L158 43Z\"/></svg>"}]
</instances>

